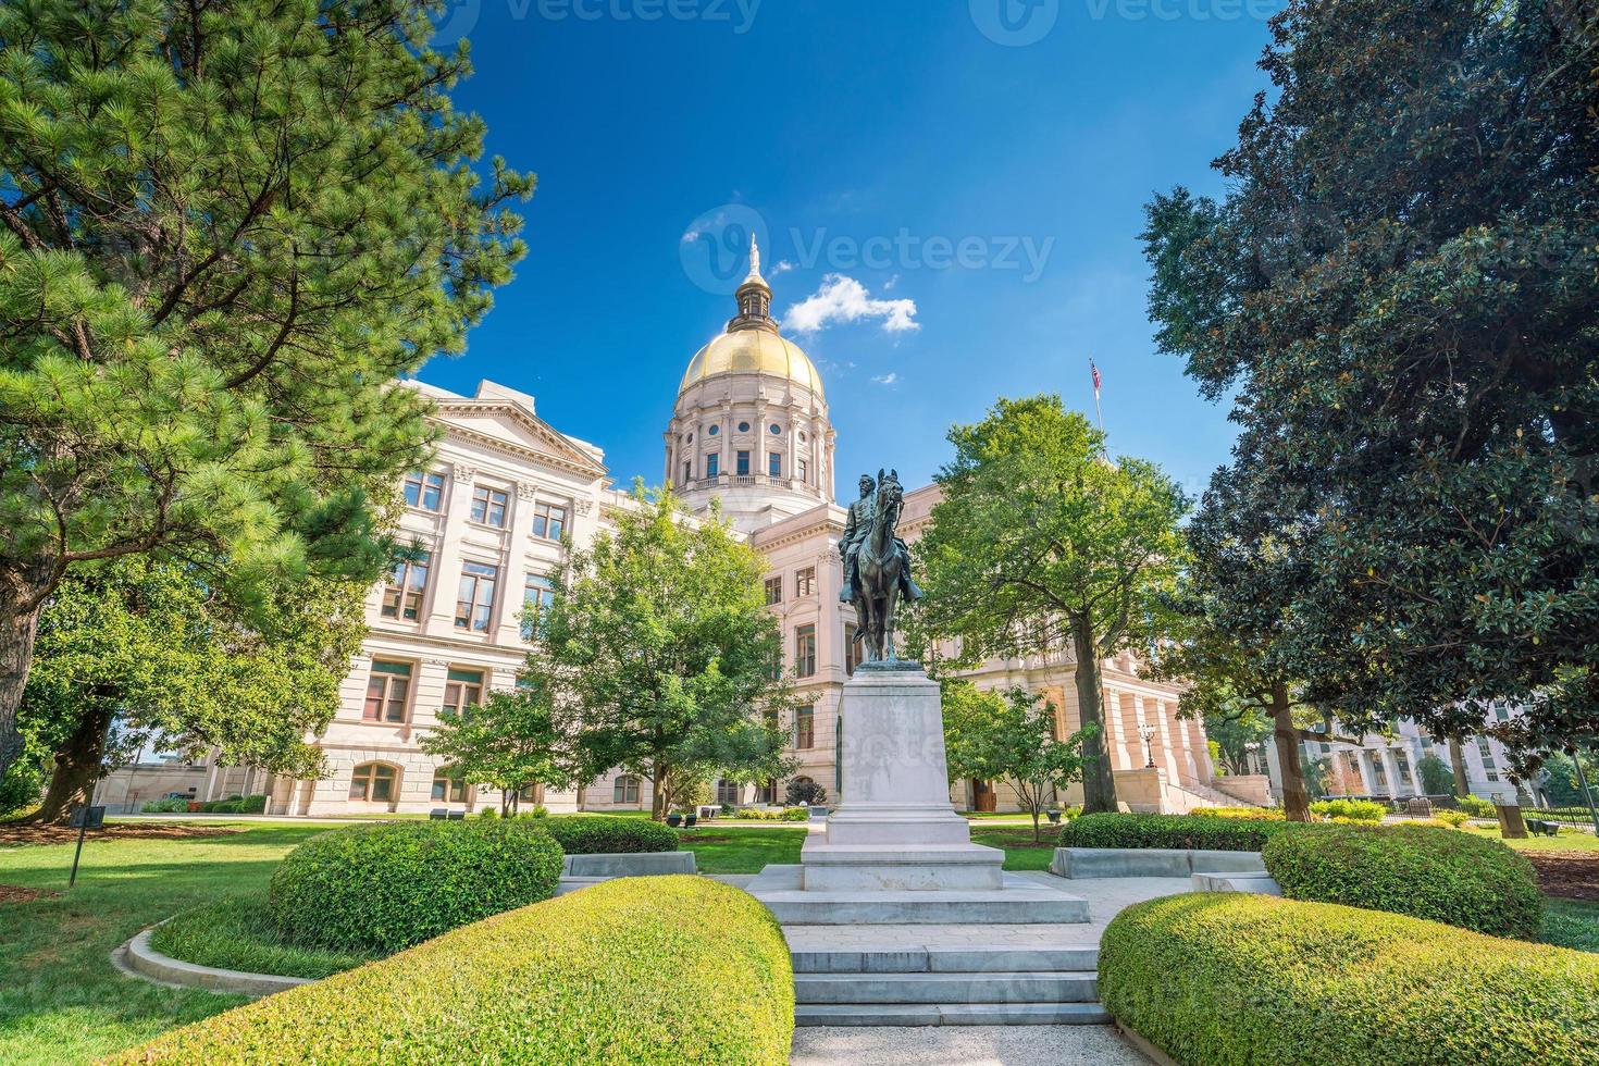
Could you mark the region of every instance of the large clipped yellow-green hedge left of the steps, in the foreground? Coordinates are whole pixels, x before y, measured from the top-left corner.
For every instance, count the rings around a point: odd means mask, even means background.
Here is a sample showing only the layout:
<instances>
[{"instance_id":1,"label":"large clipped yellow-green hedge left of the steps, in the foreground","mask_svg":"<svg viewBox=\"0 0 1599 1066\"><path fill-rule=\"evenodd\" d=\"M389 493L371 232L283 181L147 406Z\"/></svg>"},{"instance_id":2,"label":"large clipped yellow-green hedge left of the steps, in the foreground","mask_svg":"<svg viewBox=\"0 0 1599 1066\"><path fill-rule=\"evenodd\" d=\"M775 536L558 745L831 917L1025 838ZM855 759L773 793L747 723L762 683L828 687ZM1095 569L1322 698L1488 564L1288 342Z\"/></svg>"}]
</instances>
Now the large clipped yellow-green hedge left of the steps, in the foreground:
<instances>
[{"instance_id":1,"label":"large clipped yellow-green hedge left of the steps, in the foreground","mask_svg":"<svg viewBox=\"0 0 1599 1066\"><path fill-rule=\"evenodd\" d=\"M708 877L624 877L130 1048L118 1063L788 1061L771 913Z\"/></svg>"}]
</instances>

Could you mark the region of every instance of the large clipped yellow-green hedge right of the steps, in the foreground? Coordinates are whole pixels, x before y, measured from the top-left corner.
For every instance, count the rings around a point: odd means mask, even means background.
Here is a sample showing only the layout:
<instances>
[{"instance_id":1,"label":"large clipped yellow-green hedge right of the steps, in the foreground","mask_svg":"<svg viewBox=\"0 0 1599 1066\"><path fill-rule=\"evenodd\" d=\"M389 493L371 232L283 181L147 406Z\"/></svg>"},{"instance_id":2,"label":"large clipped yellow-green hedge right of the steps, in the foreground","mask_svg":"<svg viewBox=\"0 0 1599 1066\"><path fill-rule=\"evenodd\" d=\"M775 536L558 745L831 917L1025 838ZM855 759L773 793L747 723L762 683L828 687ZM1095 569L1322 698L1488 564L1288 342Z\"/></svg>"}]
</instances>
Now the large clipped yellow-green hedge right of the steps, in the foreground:
<instances>
[{"instance_id":1,"label":"large clipped yellow-green hedge right of the steps, in the foreground","mask_svg":"<svg viewBox=\"0 0 1599 1066\"><path fill-rule=\"evenodd\" d=\"M1107 1010L1178 1063L1599 1061L1599 956L1399 914L1166 897L1111 919L1099 967Z\"/></svg>"}]
</instances>

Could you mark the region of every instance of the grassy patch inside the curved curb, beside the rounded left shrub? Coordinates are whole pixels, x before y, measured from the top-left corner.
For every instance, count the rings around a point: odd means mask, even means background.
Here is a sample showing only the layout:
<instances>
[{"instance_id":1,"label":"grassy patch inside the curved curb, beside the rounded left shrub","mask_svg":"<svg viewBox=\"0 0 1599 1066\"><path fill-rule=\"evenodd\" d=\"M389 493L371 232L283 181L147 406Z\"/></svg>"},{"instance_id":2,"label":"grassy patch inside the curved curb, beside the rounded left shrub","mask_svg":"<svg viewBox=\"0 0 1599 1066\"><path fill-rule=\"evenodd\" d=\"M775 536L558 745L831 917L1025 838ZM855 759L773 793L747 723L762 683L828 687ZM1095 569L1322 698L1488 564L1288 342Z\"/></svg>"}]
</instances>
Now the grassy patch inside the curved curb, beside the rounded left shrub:
<instances>
[{"instance_id":1,"label":"grassy patch inside the curved curb, beside the rounded left shrub","mask_svg":"<svg viewBox=\"0 0 1599 1066\"><path fill-rule=\"evenodd\" d=\"M381 957L379 953L329 951L289 941L272 924L264 892L229 895L184 911L155 927L150 946L198 965L310 978L350 970Z\"/></svg>"}]
</instances>

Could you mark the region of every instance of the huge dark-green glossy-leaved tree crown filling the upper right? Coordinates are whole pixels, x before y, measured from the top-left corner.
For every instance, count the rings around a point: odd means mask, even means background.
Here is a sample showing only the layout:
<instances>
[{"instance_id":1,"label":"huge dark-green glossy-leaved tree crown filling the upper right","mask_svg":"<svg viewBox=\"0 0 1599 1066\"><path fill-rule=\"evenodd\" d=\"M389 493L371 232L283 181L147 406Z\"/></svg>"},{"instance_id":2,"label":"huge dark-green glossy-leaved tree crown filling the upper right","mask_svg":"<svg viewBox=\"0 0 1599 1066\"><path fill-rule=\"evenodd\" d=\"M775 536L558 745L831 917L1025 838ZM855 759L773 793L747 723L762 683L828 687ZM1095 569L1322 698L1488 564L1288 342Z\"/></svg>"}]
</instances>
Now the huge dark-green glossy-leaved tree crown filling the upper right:
<instances>
[{"instance_id":1,"label":"huge dark-green glossy-leaved tree crown filling the upper right","mask_svg":"<svg viewBox=\"0 0 1599 1066\"><path fill-rule=\"evenodd\" d=\"M1290 0L1226 200L1150 205L1158 344L1241 428L1194 527L1276 553L1242 599L1354 732L1599 732L1585 10Z\"/></svg>"}]
</instances>

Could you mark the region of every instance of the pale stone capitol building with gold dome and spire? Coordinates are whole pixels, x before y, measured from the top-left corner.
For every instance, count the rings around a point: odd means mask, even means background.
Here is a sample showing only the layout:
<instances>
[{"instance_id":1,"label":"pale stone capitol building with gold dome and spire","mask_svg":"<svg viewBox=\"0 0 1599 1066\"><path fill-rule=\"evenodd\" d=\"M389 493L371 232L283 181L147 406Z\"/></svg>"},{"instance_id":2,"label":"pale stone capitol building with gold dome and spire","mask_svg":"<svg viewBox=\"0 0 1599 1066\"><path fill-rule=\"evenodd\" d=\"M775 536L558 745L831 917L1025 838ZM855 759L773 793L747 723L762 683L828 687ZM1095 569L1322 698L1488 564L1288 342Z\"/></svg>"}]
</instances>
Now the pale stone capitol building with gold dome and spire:
<instances>
[{"instance_id":1,"label":"pale stone capitol building with gold dome and spire","mask_svg":"<svg viewBox=\"0 0 1599 1066\"><path fill-rule=\"evenodd\" d=\"M779 332L753 249L736 299L726 329L688 360L676 398L662 412L662 479L696 513L720 500L732 527L766 556L766 603L782 625L787 666L803 697L785 722L788 754L798 761L795 777L822 785L835 802L839 697L855 666L854 609L838 601L846 508L833 495L836 430L815 364ZM275 815L499 805L499 793L453 777L422 751L421 738L443 711L515 684L526 655L523 607L550 596L563 537L590 542L628 497L612 487L604 452L540 419L524 392L489 380L472 396L421 382L403 387L433 400L432 417L443 430L433 462L403 484L400 534L417 540L425 556L395 567L368 596L361 654L334 721L315 738L326 775L294 780L213 762L139 766L114 775L109 802L118 801L120 778L126 809L173 791L197 799L265 793ZM854 471L846 483L854 486ZM900 535L915 542L937 500L935 484L907 492ZM1079 721L1073 674L1071 654L1060 647L991 660L969 678L983 689L1041 692L1055 706L1060 735L1068 735ZM1102 676L1105 740L1122 804L1175 812L1265 801L1265 778L1214 777L1202 727L1175 716L1180 687L1138 678L1127 655L1102 663ZM787 785L718 782L716 799L780 802ZM649 782L622 772L576 791L532 788L523 799L552 812L651 805ZM1003 782L956 782L951 801L963 810L1015 805Z\"/></svg>"}]
</instances>

